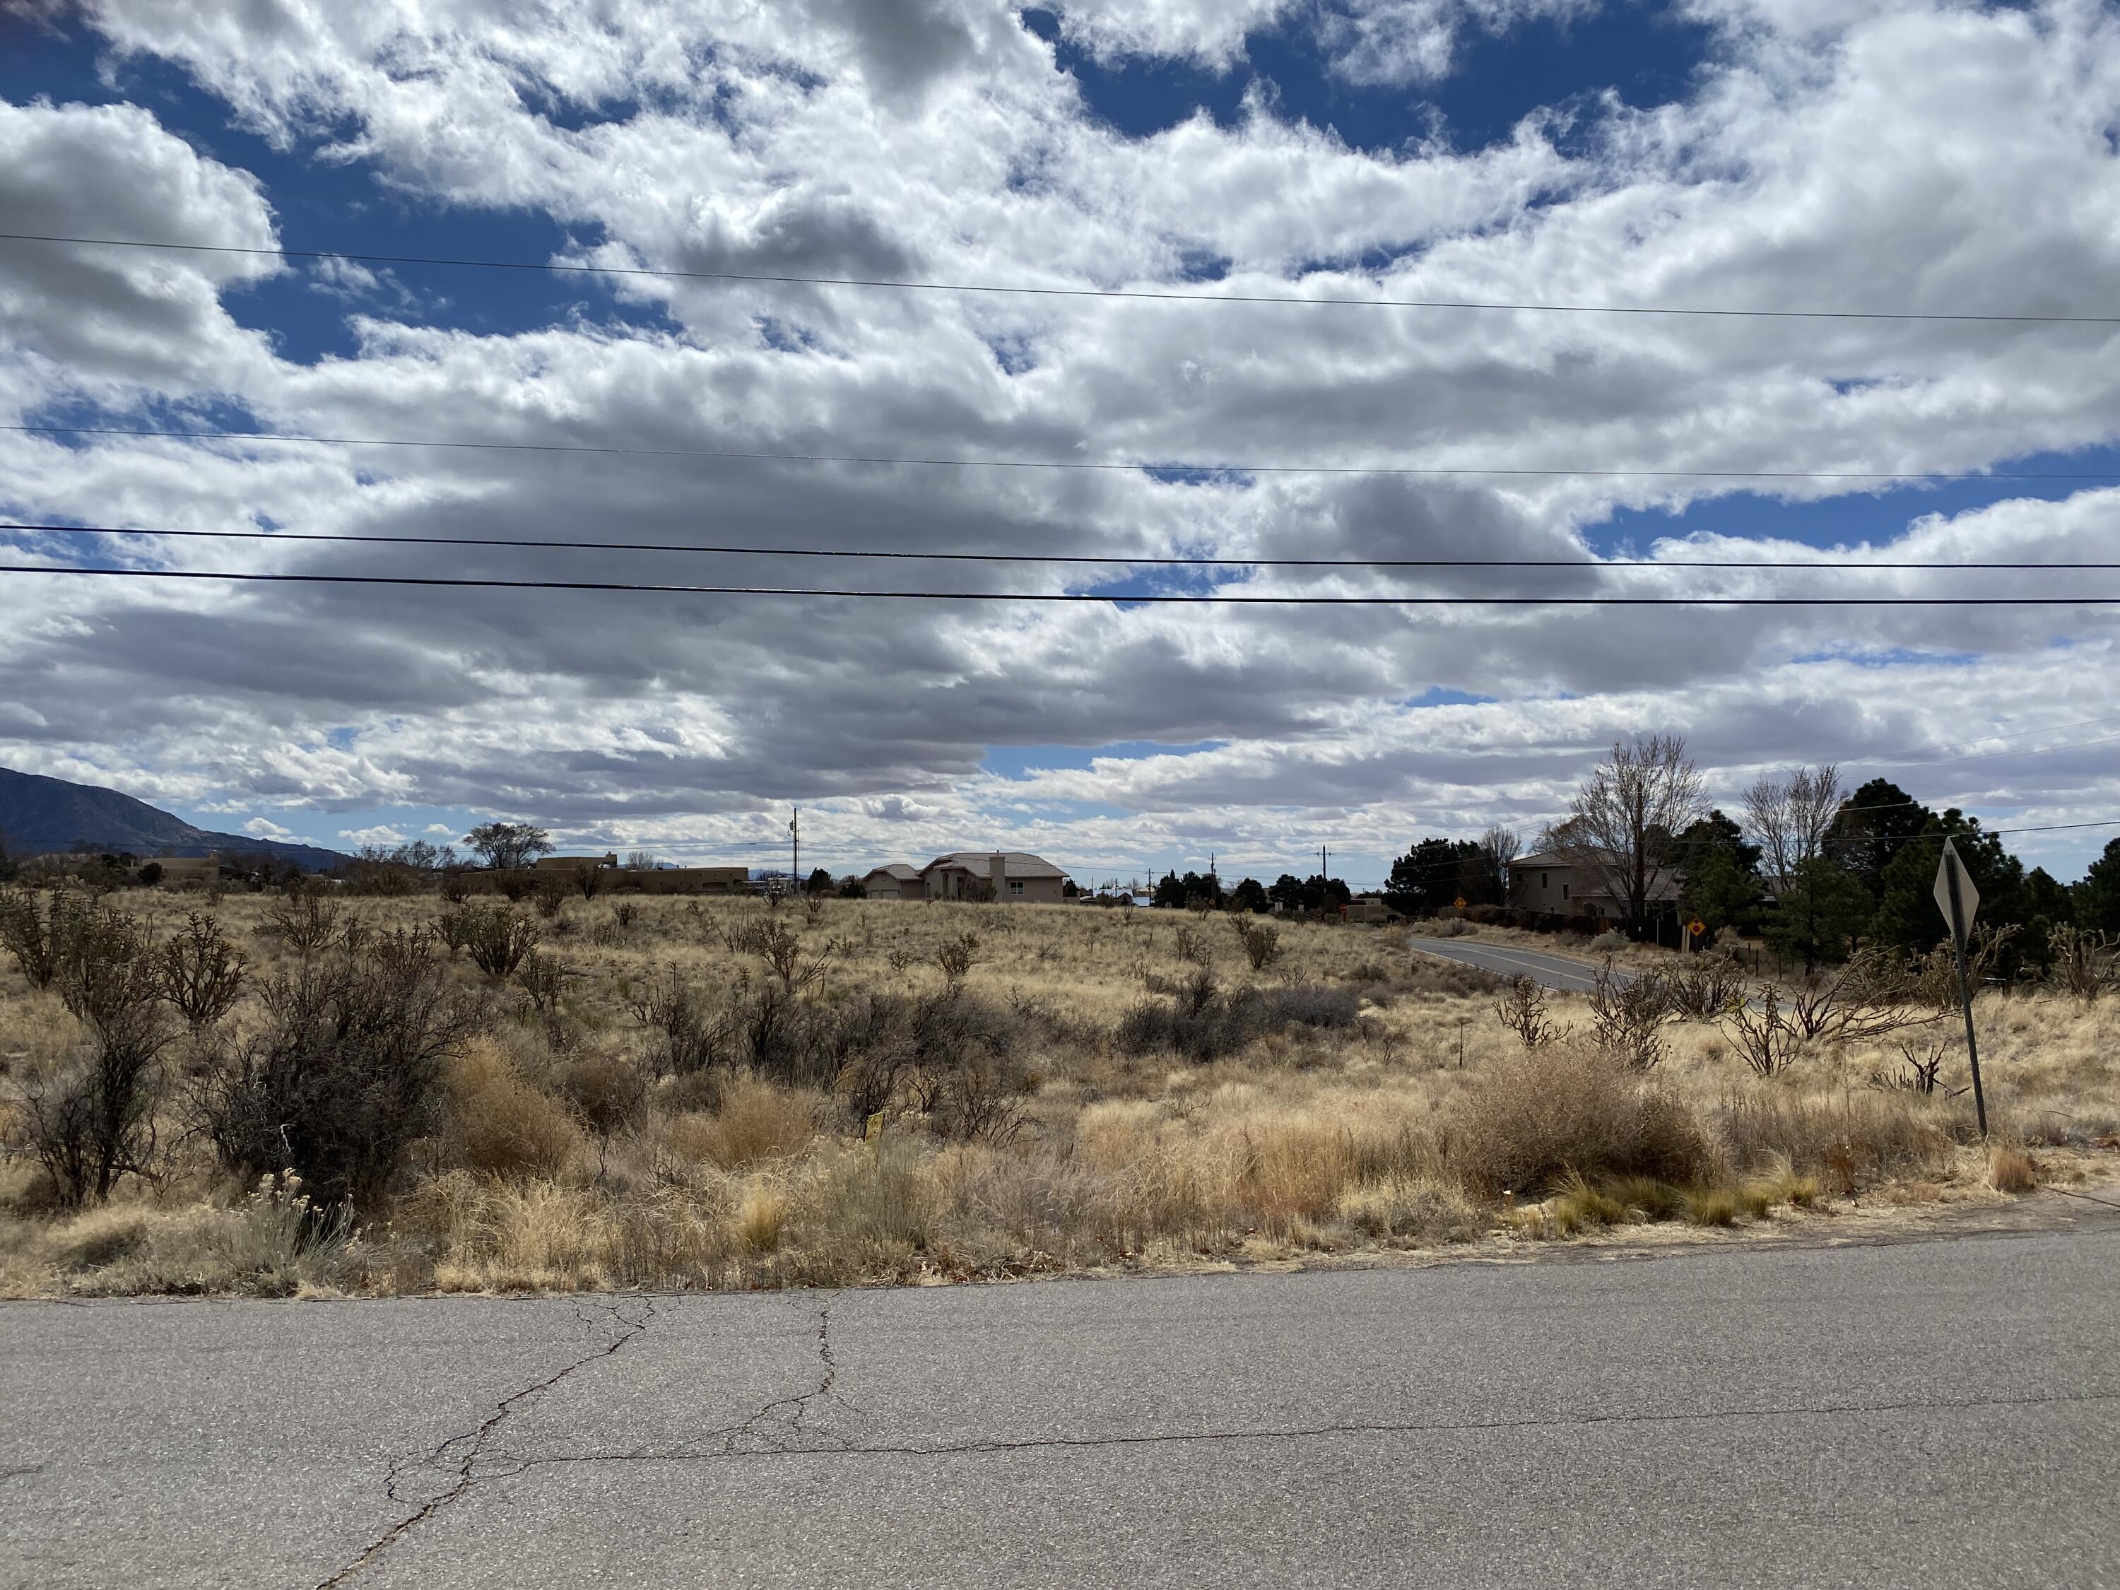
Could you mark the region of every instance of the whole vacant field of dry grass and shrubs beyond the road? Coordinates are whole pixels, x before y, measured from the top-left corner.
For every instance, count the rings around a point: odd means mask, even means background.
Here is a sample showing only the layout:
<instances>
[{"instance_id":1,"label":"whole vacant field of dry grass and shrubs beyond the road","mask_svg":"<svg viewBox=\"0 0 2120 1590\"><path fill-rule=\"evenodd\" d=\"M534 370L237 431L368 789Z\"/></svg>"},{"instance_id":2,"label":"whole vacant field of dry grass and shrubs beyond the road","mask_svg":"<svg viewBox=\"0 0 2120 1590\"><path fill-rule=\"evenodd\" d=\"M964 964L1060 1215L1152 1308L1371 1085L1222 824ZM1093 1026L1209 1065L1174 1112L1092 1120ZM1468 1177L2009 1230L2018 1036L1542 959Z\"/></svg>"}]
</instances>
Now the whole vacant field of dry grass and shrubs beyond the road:
<instances>
[{"instance_id":1,"label":"whole vacant field of dry grass and shrubs beyond the road","mask_svg":"<svg viewBox=\"0 0 2120 1590\"><path fill-rule=\"evenodd\" d=\"M51 926L47 897L11 909ZM72 969L64 943L45 986L0 969L15 1295L1179 1270L2120 1170L2112 996L1982 999L1989 1147L1963 1037L1919 1003L1791 1022L1779 990L1762 1039L1757 984L1541 1007L1397 929L840 899L61 916Z\"/></svg>"}]
</instances>

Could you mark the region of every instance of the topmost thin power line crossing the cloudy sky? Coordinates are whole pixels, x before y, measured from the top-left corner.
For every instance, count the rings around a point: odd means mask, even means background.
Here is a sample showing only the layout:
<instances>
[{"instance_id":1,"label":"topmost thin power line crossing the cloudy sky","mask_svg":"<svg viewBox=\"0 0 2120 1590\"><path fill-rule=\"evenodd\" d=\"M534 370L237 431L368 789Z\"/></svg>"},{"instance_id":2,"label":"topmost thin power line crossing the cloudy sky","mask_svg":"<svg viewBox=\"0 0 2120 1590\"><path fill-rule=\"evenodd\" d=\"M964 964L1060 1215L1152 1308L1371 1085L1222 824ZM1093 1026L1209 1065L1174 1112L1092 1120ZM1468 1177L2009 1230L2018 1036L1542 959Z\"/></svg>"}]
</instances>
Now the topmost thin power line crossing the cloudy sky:
<instances>
[{"instance_id":1,"label":"topmost thin power line crossing the cloudy sky","mask_svg":"<svg viewBox=\"0 0 2120 1590\"><path fill-rule=\"evenodd\" d=\"M83 248L148 248L180 254L237 254L246 259L346 259L360 265L441 265L481 271L551 271L553 276L625 276L672 282L761 282L774 286L863 286L901 293L992 293L1003 297L1047 299L1147 299L1168 303L1285 303L1353 310L1505 310L1529 314L1622 314L1622 316L1690 316L1713 320L1916 320L2027 326L2114 326L2112 314L1931 314L1923 310L1719 310L1704 305L1622 305L1622 303L1535 303L1503 299L1353 299L1300 293L1181 293L1177 288L1115 286L1011 286L1001 282L914 282L878 276L791 276L767 271L678 271L649 265L568 265L528 259L454 259L439 254L365 254L341 248L246 248L235 244L176 244L144 237L57 237L28 231L0 231L0 242L72 244Z\"/></svg>"}]
</instances>

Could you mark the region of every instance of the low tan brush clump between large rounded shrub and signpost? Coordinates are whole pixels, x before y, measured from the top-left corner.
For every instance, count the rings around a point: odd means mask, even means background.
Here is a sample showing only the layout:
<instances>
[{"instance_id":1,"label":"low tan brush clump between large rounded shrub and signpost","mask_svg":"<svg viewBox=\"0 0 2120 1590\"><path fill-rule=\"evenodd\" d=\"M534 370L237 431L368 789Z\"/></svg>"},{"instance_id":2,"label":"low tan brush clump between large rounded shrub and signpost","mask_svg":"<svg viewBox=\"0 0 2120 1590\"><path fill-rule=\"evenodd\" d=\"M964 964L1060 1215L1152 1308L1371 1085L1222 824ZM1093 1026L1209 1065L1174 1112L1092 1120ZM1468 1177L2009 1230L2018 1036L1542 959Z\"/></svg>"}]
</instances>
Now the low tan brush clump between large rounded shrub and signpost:
<instances>
[{"instance_id":1,"label":"low tan brush clump between large rounded shrub and signpost","mask_svg":"<svg viewBox=\"0 0 2120 1590\"><path fill-rule=\"evenodd\" d=\"M1931 1170L1950 1153L1950 1138L1904 1094L1806 1098L1787 1088L1745 1088L1728 1098L1717 1128L1736 1168L1783 1164L1823 1174L1842 1194Z\"/></svg>"}]
</instances>

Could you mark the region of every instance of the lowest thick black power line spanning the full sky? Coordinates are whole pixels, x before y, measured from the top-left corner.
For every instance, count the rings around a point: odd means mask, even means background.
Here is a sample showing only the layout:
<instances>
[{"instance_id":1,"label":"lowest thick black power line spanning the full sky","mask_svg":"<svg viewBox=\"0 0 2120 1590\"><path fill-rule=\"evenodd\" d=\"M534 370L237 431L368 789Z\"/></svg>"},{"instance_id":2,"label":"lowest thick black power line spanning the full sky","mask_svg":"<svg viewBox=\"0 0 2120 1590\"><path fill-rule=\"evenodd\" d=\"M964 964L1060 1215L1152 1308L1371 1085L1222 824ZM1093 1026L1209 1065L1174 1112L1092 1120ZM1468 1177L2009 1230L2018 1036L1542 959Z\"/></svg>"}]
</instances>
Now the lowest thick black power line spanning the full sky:
<instances>
[{"instance_id":1,"label":"lowest thick black power line spanning the full sky","mask_svg":"<svg viewBox=\"0 0 2120 1590\"><path fill-rule=\"evenodd\" d=\"M1223 596L1092 591L865 591L791 585L647 585L591 579L485 579L464 575L276 575L208 568L81 568L0 564L0 575L240 581L261 585L437 585L500 591L638 591L651 596L825 596L893 602L1102 602L1132 606L2120 606L2120 596Z\"/></svg>"}]
</instances>

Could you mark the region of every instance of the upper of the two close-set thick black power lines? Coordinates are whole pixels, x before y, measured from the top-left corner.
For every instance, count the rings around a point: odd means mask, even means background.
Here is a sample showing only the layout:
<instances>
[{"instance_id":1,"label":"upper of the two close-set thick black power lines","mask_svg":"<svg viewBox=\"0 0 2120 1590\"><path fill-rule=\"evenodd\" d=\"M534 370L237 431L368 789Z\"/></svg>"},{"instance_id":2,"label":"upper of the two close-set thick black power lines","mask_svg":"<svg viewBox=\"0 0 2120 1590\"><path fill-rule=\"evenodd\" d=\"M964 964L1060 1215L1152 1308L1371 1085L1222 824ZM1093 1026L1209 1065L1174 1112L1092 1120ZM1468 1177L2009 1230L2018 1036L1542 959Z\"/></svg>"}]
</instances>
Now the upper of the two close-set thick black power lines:
<instances>
[{"instance_id":1,"label":"upper of the two close-set thick black power lines","mask_svg":"<svg viewBox=\"0 0 2120 1590\"><path fill-rule=\"evenodd\" d=\"M2037 570L2120 570L2107 564L1953 564L1953 562L1777 562L1715 558L1130 558L1124 553L1032 553L1032 551L893 551L878 547L738 547L668 541L551 541L532 536L379 536L337 530L146 530L110 524L28 524L0 522L0 532L55 536L161 536L172 541L299 541L369 547L505 547L536 551L666 551L725 558L869 558L890 562L956 562L956 564L1079 564L1126 568L1823 568L1840 572L1906 570L1931 572L2037 572Z\"/></svg>"}]
</instances>

